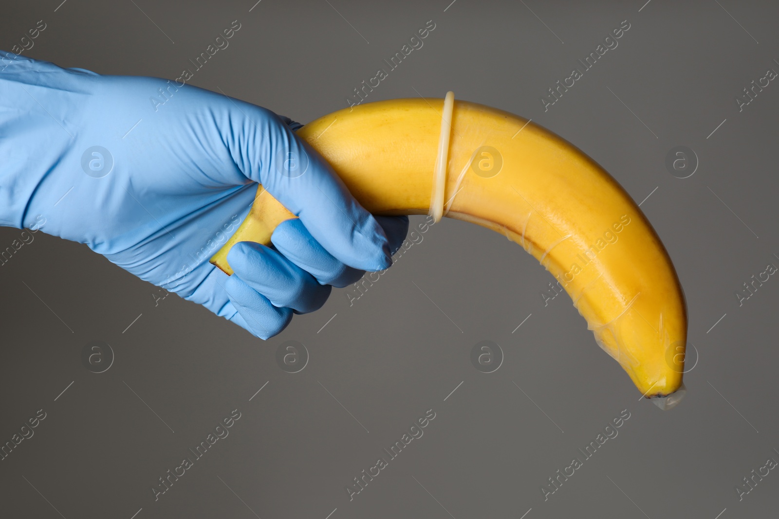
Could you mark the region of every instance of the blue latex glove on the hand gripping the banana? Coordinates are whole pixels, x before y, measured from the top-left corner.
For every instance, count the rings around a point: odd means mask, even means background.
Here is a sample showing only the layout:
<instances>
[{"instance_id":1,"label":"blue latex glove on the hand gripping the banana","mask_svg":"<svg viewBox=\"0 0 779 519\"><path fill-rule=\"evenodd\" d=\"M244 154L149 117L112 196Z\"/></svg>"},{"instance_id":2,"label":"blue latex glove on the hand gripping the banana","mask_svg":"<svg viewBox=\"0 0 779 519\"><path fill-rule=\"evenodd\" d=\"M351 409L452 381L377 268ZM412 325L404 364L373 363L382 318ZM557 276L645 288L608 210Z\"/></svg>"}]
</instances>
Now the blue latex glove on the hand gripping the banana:
<instances>
[{"instance_id":1,"label":"blue latex glove on the hand gripping the banana","mask_svg":"<svg viewBox=\"0 0 779 519\"><path fill-rule=\"evenodd\" d=\"M331 286L389 267L408 228L366 212L300 126L195 86L0 51L0 225L87 244L270 338ZM227 276L208 260L256 182L300 219L277 227L274 247L236 244Z\"/></svg>"}]
</instances>

